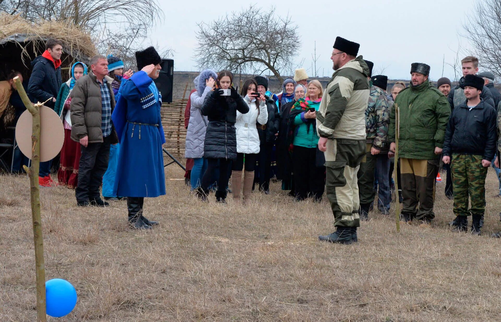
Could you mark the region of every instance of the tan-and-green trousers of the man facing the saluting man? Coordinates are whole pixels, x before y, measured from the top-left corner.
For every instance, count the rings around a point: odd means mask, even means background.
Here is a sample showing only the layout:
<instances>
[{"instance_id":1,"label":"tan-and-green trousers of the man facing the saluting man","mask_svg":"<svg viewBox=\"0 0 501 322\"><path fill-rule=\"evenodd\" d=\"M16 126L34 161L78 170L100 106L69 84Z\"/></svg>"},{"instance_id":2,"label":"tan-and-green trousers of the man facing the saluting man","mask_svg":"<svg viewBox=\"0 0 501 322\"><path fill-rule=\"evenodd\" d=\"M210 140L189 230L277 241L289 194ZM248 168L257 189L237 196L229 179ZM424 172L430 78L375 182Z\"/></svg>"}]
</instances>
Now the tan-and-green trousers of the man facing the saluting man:
<instances>
[{"instance_id":1,"label":"tan-and-green trousers of the man facing the saluting man","mask_svg":"<svg viewBox=\"0 0 501 322\"><path fill-rule=\"evenodd\" d=\"M325 188L334 225L360 227L357 172L365 155L365 140L329 139L324 154Z\"/></svg>"}]
</instances>

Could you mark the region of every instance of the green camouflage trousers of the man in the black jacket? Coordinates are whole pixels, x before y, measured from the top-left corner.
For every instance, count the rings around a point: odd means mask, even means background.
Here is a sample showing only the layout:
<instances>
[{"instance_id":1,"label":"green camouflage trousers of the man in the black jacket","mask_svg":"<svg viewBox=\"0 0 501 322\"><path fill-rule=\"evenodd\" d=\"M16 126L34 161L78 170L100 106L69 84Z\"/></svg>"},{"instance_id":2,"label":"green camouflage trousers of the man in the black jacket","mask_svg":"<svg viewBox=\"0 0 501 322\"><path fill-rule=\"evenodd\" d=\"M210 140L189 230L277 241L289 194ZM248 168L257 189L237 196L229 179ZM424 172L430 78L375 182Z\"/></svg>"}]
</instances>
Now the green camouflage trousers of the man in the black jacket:
<instances>
[{"instance_id":1,"label":"green camouflage trousers of the man in the black jacket","mask_svg":"<svg viewBox=\"0 0 501 322\"><path fill-rule=\"evenodd\" d=\"M452 154L452 187L456 216L483 215L485 211L485 177L481 155ZM468 197L471 208L468 210Z\"/></svg>"}]
</instances>

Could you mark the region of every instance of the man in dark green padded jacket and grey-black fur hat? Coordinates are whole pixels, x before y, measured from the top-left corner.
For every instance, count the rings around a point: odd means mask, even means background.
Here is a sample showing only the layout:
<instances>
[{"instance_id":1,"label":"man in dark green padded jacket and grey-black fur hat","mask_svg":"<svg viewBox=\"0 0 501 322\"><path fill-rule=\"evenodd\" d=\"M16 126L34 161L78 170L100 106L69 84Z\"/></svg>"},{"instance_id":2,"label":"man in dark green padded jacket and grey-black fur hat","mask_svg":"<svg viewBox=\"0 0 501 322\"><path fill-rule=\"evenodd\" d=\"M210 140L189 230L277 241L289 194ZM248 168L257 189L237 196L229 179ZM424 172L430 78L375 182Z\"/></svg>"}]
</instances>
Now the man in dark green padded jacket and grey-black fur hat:
<instances>
[{"instance_id":1,"label":"man in dark green padded jacket and grey-black fur hat","mask_svg":"<svg viewBox=\"0 0 501 322\"><path fill-rule=\"evenodd\" d=\"M400 110L398 155L402 183L401 218L430 223L433 213L435 179L449 120L447 98L428 80L430 66L411 64L411 84L395 99L391 110L388 140L395 152L395 109Z\"/></svg>"}]
</instances>

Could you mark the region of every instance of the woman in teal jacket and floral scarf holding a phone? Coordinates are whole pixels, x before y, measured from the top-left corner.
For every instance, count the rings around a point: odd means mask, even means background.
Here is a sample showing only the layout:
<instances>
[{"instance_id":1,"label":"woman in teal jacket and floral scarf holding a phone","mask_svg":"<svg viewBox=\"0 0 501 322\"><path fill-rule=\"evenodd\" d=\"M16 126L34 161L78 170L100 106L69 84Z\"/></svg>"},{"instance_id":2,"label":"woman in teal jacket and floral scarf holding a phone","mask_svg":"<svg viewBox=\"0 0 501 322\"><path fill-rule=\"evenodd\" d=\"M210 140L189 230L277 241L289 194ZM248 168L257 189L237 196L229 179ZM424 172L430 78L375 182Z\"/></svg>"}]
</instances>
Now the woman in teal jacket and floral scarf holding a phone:
<instances>
[{"instance_id":1,"label":"woman in teal jacket and floral scarf holding a phone","mask_svg":"<svg viewBox=\"0 0 501 322\"><path fill-rule=\"evenodd\" d=\"M321 201L325 188L325 158L318 149L316 122L317 111L323 95L322 85L318 80L308 84L305 99L294 104L289 116L292 123L293 173L296 200L313 197Z\"/></svg>"}]
</instances>

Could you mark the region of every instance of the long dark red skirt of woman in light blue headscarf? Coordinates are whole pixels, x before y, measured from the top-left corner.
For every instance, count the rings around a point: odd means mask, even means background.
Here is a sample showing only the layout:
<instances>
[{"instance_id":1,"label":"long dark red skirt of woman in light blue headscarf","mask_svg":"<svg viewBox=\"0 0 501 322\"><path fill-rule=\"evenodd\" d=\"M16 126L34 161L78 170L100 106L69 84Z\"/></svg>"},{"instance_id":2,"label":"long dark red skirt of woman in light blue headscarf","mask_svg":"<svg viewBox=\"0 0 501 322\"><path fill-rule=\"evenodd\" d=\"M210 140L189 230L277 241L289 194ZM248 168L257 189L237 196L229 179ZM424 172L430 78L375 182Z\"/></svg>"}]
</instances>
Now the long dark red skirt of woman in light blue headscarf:
<instances>
[{"instance_id":1,"label":"long dark red skirt of woman in light blue headscarf","mask_svg":"<svg viewBox=\"0 0 501 322\"><path fill-rule=\"evenodd\" d=\"M64 143L61 149L61 158L58 171L60 185L76 188L78 181L78 167L82 155L81 145L71 139L71 130L64 130Z\"/></svg>"}]
</instances>

